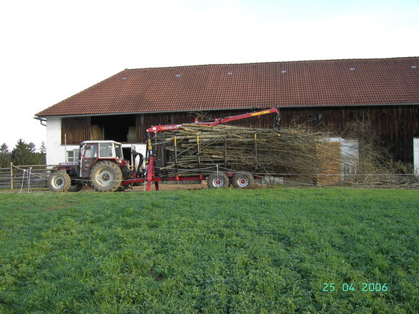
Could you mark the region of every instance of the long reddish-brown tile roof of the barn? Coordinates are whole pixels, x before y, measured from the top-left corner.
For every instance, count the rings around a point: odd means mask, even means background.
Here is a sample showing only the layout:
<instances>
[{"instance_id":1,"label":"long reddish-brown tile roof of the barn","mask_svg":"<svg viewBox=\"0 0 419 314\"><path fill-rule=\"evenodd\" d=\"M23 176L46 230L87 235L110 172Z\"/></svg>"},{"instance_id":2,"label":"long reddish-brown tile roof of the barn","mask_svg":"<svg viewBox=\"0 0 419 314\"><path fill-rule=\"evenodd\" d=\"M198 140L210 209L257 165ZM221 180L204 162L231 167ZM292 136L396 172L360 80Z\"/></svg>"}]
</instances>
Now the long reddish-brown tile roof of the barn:
<instances>
[{"instance_id":1,"label":"long reddish-brown tile roof of the barn","mask_svg":"<svg viewBox=\"0 0 419 314\"><path fill-rule=\"evenodd\" d=\"M413 103L419 57L127 69L36 115Z\"/></svg>"}]
</instances>

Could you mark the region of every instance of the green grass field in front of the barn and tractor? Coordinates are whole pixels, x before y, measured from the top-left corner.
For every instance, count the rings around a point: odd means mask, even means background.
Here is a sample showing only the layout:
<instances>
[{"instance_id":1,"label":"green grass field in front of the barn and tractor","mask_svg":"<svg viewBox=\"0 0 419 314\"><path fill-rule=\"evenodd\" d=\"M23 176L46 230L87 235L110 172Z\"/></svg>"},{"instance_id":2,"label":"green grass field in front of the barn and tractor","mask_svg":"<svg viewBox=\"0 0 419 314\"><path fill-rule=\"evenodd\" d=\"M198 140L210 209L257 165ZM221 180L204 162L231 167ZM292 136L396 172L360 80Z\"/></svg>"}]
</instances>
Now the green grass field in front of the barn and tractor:
<instances>
[{"instance_id":1,"label":"green grass field in front of the barn and tractor","mask_svg":"<svg viewBox=\"0 0 419 314\"><path fill-rule=\"evenodd\" d=\"M417 190L0 194L0 313L419 313L418 234Z\"/></svg>"}]
</instances>

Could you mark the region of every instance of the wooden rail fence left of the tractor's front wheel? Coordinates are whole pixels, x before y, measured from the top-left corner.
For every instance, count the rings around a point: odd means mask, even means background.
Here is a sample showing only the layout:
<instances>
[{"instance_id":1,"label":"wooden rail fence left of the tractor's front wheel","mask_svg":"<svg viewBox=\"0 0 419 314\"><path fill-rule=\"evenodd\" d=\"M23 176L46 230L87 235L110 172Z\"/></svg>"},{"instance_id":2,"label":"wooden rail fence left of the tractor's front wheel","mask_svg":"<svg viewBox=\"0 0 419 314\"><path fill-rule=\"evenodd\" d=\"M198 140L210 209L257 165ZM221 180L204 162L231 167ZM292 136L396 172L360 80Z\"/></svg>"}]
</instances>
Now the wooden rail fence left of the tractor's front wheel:
<instances>
[{"instance_id":1,"label":"wooden rail fence left of the tractor's front wheel","mask_svg":"<svg viewBox=\"0 0 419 314\"><path fill-rule=\"evenodd\" d=\"M55 165L33 164L0 168L0 189L21 189L46 187L46 179Z\"/></svg>"}]
</instances>

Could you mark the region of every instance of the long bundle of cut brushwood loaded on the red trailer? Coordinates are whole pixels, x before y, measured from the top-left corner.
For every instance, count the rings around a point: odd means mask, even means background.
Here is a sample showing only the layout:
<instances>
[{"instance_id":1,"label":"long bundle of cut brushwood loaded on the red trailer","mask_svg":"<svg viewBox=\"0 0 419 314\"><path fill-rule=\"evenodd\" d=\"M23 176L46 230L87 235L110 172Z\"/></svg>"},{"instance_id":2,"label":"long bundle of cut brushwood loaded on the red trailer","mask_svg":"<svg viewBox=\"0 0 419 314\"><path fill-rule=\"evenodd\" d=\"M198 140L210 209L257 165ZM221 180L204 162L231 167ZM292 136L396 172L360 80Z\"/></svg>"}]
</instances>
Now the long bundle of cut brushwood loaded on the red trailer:
<instances>
[{"instance_id":1,"label":"long bundle of cut brushwood loaded on the red trailer","mask_svg":"<svg viewBox=\"0 0 419 314\"><path fill-rule=\"evenodd\" d=\"M339 158L333 143L324 140L328 136L298 127L275 130L185 124L157 133L155 141L165 147L161 169L169 175L213 171L217 165L234 171L310 175L326 173L328 160Z\"/></svg>"}]
</instances>

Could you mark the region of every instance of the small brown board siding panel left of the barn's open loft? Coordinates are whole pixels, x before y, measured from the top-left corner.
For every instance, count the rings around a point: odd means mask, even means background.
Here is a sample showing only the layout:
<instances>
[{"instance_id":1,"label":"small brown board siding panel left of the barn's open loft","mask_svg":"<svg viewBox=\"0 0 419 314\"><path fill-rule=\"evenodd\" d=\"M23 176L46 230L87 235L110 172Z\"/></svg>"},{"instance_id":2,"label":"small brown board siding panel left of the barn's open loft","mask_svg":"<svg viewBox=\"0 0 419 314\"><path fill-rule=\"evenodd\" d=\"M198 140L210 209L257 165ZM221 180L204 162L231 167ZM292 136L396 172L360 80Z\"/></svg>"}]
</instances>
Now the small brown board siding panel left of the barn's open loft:
<instances>
[{"instance_id":1,"label":"small brown board siding panel left of the barn's open loft","mask_svg":"<svg viewBox=\"0 0 419 314\"><path fill-rule=\"evenodd\" d=\"M90 117L62 117L61 118L61 144L80 144L90 140Z\"/></svg>"}]
</instances>

